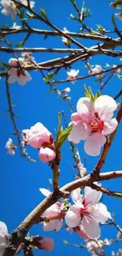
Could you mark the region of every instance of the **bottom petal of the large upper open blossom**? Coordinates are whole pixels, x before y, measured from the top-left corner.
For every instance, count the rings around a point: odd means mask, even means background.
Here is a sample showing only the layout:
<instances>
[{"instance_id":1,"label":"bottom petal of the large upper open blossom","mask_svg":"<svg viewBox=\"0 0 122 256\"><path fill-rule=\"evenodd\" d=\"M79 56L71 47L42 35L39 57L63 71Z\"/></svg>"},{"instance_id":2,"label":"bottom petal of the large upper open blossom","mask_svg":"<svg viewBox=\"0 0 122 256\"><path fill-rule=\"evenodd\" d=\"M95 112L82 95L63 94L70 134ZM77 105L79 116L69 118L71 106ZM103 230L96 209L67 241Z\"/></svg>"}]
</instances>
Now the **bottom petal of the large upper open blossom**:
<instances>
[{"instance_id":1,"label":"bottom petal of the large upper open blossom","mask_svg":"<svg viewBox=\"0 0 122 256\"><path fill-rule=\"evenodd\" d=\"M105 135L98 132L91 134L84 143L84 150L87 154L95 157L100 154L101 147L105 144Z\"/></svg>"}]
</instances>

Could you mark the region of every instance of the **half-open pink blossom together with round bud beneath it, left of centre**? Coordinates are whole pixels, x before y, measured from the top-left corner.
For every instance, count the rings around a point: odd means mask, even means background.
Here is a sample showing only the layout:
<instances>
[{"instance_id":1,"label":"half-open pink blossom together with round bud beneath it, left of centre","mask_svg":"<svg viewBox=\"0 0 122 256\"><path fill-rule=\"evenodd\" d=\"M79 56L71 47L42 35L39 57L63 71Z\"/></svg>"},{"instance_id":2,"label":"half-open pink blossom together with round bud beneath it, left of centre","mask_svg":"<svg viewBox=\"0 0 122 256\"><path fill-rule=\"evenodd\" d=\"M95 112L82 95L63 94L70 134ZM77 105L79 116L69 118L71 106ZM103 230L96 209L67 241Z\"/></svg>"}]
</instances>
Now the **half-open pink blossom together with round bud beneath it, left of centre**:
<instances>
[{"instance_id":1,"label":"half-open pink blossom together with round bud beneath it, left of centre","mask_svg":"<svg viewBox=\"0 0 122 256\"><path fill-rule=\"evenodd\" d=\"M23 130L24 143L39 150L39 159L45 163L52 161L56 157L54 152L53 135L46 127L37 123L30 129Z\"/></svg>"}]
</instances>

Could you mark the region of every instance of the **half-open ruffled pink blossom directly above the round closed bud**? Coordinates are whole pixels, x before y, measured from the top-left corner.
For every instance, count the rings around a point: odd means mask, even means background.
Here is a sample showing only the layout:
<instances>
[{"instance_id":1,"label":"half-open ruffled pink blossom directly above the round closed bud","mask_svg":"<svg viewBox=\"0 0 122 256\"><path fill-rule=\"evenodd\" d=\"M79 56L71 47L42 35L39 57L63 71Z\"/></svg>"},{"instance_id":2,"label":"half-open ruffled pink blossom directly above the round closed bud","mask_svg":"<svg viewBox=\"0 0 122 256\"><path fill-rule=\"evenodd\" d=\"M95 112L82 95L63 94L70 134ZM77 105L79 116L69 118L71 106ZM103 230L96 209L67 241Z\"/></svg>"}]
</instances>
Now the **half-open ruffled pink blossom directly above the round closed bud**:
<instances>
[{"instance_id":1,"label":"half-open ruffled pink blossom directly above the round closed bud","mask_svg":"<svg viewBox=\"0 0 122 256\"><path fill-rule=\"evenodd\" d=\"M26 131L26 130L24 130ZM51 144L53 141L52 134L41 123L36 123L27 130L26 139L31 147L39 149L43 144Z\"/></svg>"}]
</instances>

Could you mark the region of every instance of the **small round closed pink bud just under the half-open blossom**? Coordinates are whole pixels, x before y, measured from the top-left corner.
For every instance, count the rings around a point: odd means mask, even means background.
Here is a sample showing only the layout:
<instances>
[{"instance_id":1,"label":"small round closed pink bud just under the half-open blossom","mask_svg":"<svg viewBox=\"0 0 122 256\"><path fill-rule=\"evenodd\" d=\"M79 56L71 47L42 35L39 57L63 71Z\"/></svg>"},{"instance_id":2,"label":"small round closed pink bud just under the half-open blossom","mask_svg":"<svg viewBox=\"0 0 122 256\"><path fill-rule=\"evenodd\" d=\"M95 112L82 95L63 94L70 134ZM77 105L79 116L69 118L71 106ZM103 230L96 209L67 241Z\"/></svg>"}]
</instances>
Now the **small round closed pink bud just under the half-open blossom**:
<instances>
[{"instance_id":1,"label":"small round closed pink bud just under the half-open blossom","mask_svg":"<svg viewBox=\"0 0 122 256\"><path fill-rule=\"evenodd\" d=\"M51 150L49 147L41 147L39 150L39 159L46 163L46 161L52 161L56 158L54 150Z\"/></svg>"}]
</instances>

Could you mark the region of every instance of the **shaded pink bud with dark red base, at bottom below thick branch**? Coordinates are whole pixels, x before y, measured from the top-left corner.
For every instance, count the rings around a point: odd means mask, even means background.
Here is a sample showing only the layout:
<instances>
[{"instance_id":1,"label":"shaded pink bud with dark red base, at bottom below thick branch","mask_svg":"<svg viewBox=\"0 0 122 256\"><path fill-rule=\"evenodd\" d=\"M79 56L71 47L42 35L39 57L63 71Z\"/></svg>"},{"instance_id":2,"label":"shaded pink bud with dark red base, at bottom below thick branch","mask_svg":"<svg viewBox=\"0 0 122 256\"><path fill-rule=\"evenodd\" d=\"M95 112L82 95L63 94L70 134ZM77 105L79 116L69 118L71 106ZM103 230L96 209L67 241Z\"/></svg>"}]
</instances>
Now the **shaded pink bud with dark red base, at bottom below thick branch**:
<instances>
[{"instance_id":1,"label":"shaded pink bud with dark red base, at bottom below thick branch","mask_svg":"<svg viewBox=\"0 0 122 256\"><path fill-rule=\"evenodd\" d=\"M54 249L54 239L50 237L40 237L40 236L32 237L31 244L32 246L38 247L39 249L42 249L42 250L51 251Z\"/></svg>"}]
</instances>

